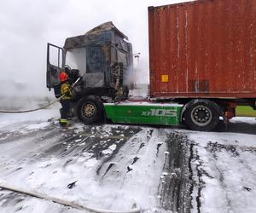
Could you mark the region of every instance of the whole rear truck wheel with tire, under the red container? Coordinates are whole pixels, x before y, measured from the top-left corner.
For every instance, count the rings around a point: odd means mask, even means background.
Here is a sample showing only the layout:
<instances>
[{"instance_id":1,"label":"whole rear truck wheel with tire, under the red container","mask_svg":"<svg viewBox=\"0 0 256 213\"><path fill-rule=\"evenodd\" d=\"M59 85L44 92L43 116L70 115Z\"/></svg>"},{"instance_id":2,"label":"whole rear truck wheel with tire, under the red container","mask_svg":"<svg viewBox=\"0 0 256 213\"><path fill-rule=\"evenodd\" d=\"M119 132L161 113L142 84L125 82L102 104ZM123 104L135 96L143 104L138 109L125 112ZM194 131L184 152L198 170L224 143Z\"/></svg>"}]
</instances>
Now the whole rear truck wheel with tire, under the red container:
<instances>
[{"instance_id":1,"label":"whole rear truck wheel with tire, under the red container","mask_svg":"<svg viewBox=\"0 0 256 213\"><path fill-rule=\"evenodd\" d=\"M184 112L185 124L191 130L211 131L219 121L219 114L217 107L207 102L197 102L189 106Z\"/></svg>"}]
</instances>

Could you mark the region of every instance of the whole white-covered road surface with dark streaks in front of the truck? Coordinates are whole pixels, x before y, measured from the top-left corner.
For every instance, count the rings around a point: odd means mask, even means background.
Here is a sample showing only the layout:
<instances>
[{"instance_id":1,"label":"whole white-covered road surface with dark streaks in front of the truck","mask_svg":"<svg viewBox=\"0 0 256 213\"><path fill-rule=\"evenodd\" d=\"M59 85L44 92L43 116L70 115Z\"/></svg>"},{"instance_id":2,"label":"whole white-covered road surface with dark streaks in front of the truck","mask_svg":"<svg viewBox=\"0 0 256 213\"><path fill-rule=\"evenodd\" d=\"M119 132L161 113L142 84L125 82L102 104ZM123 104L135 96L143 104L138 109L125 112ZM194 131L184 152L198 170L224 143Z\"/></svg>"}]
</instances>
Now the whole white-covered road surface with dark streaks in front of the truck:
<instances>
[{"instance_id":1,"label":"whole white-covered road surface with dark streaks in front of the truck","mask_svg":"<svg viewBox=\"0 0 256 213\"><path fill-rule=\"evenodd\" d=\"M256 120L201 133L73 124L58 111L0 115L0 185L94 209L255 212ZM50 118L50 119L49 119ZM0 212L82 212L0 190Z\"/></svg>"}]
</instances>

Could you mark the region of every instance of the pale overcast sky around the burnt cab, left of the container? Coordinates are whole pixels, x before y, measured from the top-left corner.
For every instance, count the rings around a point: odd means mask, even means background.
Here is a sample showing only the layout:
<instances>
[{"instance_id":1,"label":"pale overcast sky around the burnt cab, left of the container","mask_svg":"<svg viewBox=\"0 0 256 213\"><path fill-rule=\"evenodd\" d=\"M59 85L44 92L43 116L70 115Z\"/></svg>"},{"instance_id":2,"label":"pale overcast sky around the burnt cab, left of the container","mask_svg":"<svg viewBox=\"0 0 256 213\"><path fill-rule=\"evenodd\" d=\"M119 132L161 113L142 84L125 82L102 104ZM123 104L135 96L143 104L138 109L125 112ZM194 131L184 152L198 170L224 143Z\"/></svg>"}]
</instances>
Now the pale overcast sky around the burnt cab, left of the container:
<instances>
[{"instance_id":1,"label":"pale overcast sky around the burnt cab, left of the container","mask_svg":"<svg viewBox=\"0 0 256 213\"><path fill-rule=\"evenodd\" d=\"M63 46L67 37L84 34L112 20L141 53L148 73L148 6L183 0L0 0L0 82L27 83L47 94L46 44ZM143 82L148 81L147 78ZM3 87L0 85L3 91Z\"/></svg>"}]
</instances>

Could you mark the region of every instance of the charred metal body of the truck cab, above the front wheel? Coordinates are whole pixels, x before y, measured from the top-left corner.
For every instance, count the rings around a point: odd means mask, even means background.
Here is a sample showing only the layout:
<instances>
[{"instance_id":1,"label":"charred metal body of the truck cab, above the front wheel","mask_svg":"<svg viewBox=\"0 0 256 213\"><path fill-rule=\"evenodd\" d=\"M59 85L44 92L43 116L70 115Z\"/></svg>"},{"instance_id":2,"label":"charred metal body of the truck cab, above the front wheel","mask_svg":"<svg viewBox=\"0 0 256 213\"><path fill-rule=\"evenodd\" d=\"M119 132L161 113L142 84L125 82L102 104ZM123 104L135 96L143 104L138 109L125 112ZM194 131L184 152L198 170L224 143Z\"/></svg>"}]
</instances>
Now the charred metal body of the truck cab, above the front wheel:
<instances>
[{"instance_id":1,"label":"charred metal body of the truck cab, above the front wheel","mask_svg":"<svg viewBox=\"0 0 256 213\"><path fill-rule=\"evenodd\" d=\"M127 42L128 37L113 25L112 22L96 26L84 35L68 37L64 48L58 49L63 52L63 65L52 65L49 62L49 51L47 56L47 87L55 89L55 96L58 96L60 81L58 73L65 68L73 83L79 76L83 80L76 86L76 100L83 95L103 95L114 97L123 88L123 76L126 75L128 67L132 66L132 46ZM49 47L48 47L49 49ZM67 63L67 54L73 51L84 62L84 70L71 67ZM93 92L93 94L92 94Z\"/></svg>"}]
</instances>

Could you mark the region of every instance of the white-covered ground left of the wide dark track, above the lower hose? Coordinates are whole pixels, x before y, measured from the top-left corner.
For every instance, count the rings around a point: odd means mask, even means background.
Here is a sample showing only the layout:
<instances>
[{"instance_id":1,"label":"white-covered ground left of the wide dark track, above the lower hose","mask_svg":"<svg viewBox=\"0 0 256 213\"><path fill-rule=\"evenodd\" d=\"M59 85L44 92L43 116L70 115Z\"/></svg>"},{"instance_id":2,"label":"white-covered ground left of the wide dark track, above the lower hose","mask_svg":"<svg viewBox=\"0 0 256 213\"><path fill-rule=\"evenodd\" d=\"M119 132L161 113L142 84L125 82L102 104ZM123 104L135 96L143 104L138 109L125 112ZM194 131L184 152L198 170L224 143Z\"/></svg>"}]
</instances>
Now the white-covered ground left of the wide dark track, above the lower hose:
<instances>
[{"instance_id":1,"label":"white-covered ground left of the wide dark track, above the lower hose","mask_svg":"<svg viewBox=\"0 0 256 213\"><path fill-rule=\"evenodd\" d=\"M40 116L34 113L26 122L26 116L20 115L16 123L13 115L4 116L9 119L1 123L5 124L1 133L8 132L15 138L0 138L0 183L96 209L123 211L156 207L154 197L166 151L164 146L158 158L152 155L156 154L158 141L164 141L166 135L158 130L148 135L147 128L119 125L74 124L62 130L56 124L57 118L47 121L52 116L57 116L55 110ZM133 129L140 131L134 135ZM125 130L131 132L130 136L127 137ZM125 144L120 147L123 141ZM144 146L140 147L142 143ZM101 158L91 153L99 146L103 148ZM119 153L113 154L117 149ZM111 161L106 161L112 154ZM137 163L133 162L135 158ZM110 164L113 168L108 169ZM75 186L67 188L73 181Z\"/></svg>"}]
</instances>

